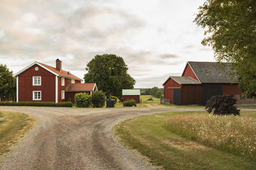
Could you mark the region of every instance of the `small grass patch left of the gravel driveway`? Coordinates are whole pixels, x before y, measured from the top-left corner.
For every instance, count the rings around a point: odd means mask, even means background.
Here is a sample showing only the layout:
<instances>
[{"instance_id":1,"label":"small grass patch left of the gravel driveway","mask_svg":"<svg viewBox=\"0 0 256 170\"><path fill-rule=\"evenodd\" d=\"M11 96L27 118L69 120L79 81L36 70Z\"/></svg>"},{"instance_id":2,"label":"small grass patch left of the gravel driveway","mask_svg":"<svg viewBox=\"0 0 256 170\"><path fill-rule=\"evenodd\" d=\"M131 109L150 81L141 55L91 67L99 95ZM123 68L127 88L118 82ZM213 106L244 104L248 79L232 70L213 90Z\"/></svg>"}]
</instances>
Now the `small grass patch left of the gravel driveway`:
<instances>
[{"instance_id":1,"label":"small grass patch left of the gravel driveway","mask_svg":"<svg viewBox=\"0 0 256 170\"><path fill-rule=\"evenodd\" d=\"M25 113L0 110L0 155L9 152L34 124L35 118Z\"/></svg>"}]
</instances>

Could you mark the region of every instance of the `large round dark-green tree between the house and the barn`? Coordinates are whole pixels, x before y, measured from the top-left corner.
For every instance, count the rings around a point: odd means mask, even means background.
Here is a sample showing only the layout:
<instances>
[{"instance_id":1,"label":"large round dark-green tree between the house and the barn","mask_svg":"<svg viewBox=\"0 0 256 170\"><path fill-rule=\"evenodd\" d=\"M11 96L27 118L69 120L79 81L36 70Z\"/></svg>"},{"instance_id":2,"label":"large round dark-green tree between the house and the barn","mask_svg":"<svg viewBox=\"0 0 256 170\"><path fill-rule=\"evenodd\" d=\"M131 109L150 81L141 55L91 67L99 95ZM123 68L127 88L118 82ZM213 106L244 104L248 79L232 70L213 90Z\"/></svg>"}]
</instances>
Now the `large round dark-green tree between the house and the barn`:
<instances>
[{"instance_id":1,"label":"large round dark-green tree between the house and the barn","mask_svg":"<svg viewBox=\"0 0 256 170\"><path fill-rule=\"evenodd\" d=\"M106 96L122 97L122 89L133 89L135 80L128 73L124 59L115 54L95 55L86 65L84 81L96 83Z\"/></svg>"}]
</instances>

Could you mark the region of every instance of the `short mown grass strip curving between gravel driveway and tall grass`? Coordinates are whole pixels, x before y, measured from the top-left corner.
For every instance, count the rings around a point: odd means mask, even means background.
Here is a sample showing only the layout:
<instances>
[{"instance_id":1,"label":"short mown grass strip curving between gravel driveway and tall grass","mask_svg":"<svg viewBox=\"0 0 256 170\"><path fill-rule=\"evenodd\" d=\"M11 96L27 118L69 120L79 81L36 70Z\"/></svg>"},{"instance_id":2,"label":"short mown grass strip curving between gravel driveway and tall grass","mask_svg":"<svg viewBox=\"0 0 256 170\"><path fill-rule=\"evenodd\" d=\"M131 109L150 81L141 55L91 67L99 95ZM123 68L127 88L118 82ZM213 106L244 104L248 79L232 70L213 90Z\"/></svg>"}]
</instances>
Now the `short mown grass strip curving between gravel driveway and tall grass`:
<instances>
[{"instance_id":1,"label":"short mown grass strip curving between gravel driveway and tall grass","mask_svg":"<svg viewBox=\"0 0 256 170\"><path fill-rule=\"evenodd\" d=\"M130 118L113 129L120 142L147 156L164 169L256 169L256 161L223 152L166 129L164 122L173 115L207 114L205 111L170 112ZM242 117L256 113L242 112Z\"/></svg>"}]
</instances>

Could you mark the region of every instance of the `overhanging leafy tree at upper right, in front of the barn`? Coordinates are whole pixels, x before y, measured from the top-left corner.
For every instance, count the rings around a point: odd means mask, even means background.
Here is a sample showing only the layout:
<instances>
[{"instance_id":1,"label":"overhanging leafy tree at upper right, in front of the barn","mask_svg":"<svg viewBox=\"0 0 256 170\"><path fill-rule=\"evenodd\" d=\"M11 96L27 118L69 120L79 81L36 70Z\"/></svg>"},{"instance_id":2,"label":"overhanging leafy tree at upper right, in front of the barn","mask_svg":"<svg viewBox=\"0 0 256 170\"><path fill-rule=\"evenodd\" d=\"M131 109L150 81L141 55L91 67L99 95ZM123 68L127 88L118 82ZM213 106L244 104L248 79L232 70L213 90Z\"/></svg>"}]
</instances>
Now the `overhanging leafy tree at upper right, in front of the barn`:
<instances>
[{"instance_id":1,"label":"overhanging leafy tree at upper right, in front of the barn","mask_svg":"<svg viewBox=\"0 0 256 170\"><path fill-rule=\"evenodd\" d=\"M232 62L231 76L246 97L256 97L256 1L207 0L195 21L206 29L203 45L219 62Z\"/></svg>"}]
</instances>

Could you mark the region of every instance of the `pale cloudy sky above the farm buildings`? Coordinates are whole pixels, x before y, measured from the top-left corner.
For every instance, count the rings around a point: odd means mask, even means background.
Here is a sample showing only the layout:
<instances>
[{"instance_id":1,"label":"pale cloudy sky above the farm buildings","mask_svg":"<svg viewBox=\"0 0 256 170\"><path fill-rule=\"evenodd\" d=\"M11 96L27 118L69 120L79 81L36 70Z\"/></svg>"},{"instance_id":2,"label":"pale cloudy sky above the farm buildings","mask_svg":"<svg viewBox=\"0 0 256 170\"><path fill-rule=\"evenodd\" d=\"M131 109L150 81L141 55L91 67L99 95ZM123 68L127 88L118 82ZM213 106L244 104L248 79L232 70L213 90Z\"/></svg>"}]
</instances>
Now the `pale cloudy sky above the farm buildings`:
<instances>
[{"instance_id":1,"label":"pale cloudy sky above the farm buildings","mask_svg":"<svg viewBox=\"0 0 256 170\"><path fill-rule=\"evenodd\" d=\"M124 58L136 88L162 87L188 60L214 61L193 20L204 0L1 0L0 63L38 61L83 79L97 54Z\"/></svg>"}]
</instances>

